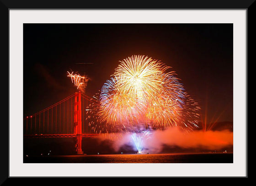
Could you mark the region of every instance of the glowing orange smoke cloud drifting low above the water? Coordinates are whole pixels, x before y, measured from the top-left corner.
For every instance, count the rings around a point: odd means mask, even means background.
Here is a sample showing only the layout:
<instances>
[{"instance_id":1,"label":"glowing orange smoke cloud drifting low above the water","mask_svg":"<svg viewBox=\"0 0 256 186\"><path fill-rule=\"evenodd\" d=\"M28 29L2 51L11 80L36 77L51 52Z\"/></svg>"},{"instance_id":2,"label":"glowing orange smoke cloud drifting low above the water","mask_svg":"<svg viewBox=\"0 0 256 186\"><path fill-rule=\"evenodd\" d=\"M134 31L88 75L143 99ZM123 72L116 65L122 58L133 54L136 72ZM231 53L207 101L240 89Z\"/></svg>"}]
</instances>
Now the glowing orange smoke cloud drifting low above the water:
<instances>
[{"instance_id":1,"label":"glowing orange smoke cloud drifting low above the water","mask_svg":"<svg viewBox=\"0 0 256 186\"><path fill-rule=\"evenodd\" d=\"M108 139L115 151L120 151L124 146L133 147L136 151L132 133L126 133L122 138L118 138L117 134L109 134ZM233 132L229 130L222 131L207 131L197 130L192 132L183 132L178 128L169 128L164 131L151 131L150 138L143 138L144 153L161 153L163 149L175 147L179 149L204 149L204 150L221 150L225 147L233 146ZM101 140L106 140L106 137L99 137ZM171 153L171 152L170 152Z\"/></svg>"}]
</instances>

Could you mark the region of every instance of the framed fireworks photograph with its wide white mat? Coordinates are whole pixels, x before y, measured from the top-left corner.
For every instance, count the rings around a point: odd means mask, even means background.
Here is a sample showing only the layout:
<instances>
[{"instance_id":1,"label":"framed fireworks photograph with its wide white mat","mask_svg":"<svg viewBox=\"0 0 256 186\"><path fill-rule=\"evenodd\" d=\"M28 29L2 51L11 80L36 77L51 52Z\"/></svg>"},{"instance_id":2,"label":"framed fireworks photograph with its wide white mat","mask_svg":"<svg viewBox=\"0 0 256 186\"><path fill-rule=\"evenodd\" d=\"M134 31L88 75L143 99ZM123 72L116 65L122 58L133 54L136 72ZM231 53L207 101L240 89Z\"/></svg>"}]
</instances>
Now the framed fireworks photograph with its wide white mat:
<instances>
[{"instance_id":1,"label":"framed fireworks photograph with its wide white mat","mask_svg":"<svg viewBox=\"0 0 256 186\"><path fill-rule=\"evenodd\" d=\"M3 2L9 133L1 137L8 154L0 183L248 178L255 3L171 4Z\"/></svg>"}]
</instances>

